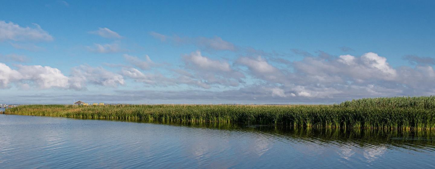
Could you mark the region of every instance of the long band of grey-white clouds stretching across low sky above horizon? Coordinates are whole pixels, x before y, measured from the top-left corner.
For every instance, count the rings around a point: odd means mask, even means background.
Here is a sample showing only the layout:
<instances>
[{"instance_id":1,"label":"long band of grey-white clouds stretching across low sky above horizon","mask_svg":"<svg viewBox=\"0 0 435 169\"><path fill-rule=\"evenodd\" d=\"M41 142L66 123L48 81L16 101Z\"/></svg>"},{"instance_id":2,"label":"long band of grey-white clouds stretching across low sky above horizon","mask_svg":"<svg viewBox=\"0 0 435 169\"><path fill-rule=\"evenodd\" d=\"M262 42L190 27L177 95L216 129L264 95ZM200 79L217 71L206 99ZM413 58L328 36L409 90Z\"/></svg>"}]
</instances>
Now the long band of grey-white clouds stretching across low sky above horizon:
<instances>
[{"instance_id":1,"label":"long band of grey-white clouds stretching across low sky above horizon","mask_svg":"<svg viewBox=\"0 0 435 169\"><path fill-rule=\"evenodd\" d=\"M261 103L325 103L378 96L435 94L435 70L427 64L392 67L377 53L361 56L324 57L305 55L302 60L268 60L261 56L240 56L233 61L215 60L195 51L181 56L179 69L159 73L162 68L149 56L141 59L124 54L126 63L118 73L87 65L72 69L69 76L60 70L39 65L0 64L0 87L26 84L38 89L84 90L89 85L116 89L128 79L144 87L189 86L190 89L124 90L137 99L204 99ZM285 65L285 66L276 66ZM158 96L157 96L158 95ZM127 97L127 96L126 96ZM126 100L130 100L125 98Z\"/></svg>"}]
</instances>

